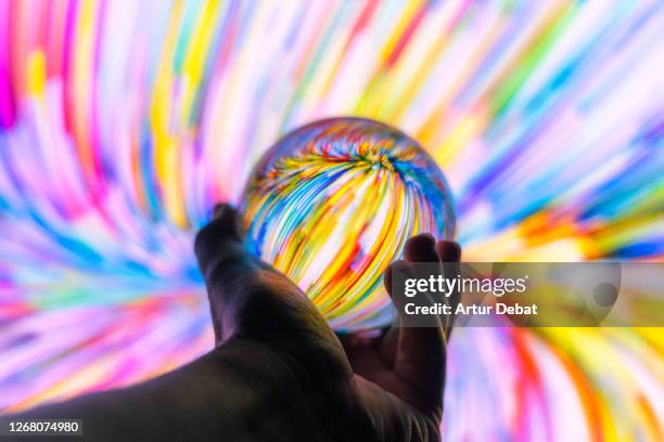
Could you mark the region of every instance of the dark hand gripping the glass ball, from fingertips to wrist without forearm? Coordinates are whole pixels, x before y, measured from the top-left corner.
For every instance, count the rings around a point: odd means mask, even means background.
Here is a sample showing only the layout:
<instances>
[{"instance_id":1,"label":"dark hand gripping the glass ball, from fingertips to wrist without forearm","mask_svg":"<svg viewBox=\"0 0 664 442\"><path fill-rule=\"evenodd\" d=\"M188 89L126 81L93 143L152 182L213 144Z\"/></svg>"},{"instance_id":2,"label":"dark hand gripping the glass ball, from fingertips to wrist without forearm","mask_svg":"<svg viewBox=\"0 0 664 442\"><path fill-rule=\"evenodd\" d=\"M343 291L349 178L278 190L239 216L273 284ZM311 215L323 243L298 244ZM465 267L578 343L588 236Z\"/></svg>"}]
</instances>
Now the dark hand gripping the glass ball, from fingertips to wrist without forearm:
<instances>
[{"instance_id":1,"label":"dark hand gripping the glass ball, from fingertips to wrist without forearm","mask_svg":"<svg viewBox=\"0 0 664 442\"><path fill-rule=\"evenodd\" d=\"M251 386L245 403L267 403L271 425L243 433L266 439L271 428L282 439L438 440L449 324L392 327L362 339L332 333L316 307L288 277L244 248L237 212L227 205L196 236L205 276L216 351ZM456 243L430 235L410 238L405 260L385 272L391 291L395 268L414 262L458 262ZM286 388L288 386L288 388ZM255 411L252 411L254 413Z\"/></svg>"}]
</instances>

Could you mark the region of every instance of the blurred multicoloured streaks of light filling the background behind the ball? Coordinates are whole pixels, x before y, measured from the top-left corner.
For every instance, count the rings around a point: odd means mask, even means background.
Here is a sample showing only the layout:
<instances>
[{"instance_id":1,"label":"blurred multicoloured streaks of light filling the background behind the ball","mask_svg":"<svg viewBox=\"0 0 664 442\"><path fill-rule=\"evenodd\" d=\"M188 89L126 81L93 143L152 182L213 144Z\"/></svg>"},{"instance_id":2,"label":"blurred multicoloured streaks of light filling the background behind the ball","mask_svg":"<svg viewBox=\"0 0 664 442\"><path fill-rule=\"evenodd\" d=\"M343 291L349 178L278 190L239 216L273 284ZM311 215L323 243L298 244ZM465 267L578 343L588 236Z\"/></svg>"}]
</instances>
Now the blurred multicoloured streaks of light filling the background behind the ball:
<instances>
[{"instance_id":1,"label":"blurred multicoloured streaks of light filling the background behind the ball","mask_svg":"<svg viewBox=\"0 0 664 442\"><path fill-rule=\"evenodd\" d=\"M0 408L209 349L192 232L329 116L426 148L469 260L663 259L662 41L654 0L0 2ZM458 332L446 440L663 439L660 329Z\"/></svg>"}]
</instances>

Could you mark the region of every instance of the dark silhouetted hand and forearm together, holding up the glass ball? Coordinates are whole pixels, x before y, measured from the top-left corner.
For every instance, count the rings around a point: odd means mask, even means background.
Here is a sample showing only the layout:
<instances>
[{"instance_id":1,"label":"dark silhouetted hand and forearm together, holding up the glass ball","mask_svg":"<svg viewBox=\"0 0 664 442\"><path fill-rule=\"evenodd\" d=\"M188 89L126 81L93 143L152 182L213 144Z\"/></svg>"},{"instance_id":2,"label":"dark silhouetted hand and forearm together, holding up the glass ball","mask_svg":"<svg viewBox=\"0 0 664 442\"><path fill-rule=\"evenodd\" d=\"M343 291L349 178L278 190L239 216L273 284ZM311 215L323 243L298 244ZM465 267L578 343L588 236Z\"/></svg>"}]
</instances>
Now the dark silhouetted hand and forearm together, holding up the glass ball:
<instances>
[{"instance_id":1,"label":"dark silhouetted hand and forearm together, holding up the glass ball","mask_svg":"<svg viewBox=\"0 0 664 442\"><path fill-rule=\"evenodd\" d=\"M150 381L15 417L82 418L84 439L93 441L439 439L449 324L345 336L342 344L302 290L246 251L227 205L199 232L195 252L213 351ZM419 235L391 269L458 262L460 253L456 243Z\"/></svg>"}]
</instances>

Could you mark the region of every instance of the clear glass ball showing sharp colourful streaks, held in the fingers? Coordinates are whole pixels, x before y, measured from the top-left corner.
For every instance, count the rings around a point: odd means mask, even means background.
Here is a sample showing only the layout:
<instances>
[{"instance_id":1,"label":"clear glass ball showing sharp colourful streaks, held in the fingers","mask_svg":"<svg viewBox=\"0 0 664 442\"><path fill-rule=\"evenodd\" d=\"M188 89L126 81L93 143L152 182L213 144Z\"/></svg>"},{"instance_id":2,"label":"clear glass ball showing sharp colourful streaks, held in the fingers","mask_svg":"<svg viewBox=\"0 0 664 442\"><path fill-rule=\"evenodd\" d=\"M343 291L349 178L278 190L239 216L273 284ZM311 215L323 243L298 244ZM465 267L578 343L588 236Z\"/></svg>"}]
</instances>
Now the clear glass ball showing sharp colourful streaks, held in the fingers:
<instances>
[{"instance_id":1,"label":"clear glass ball showing sharp colourful streaks, held in the fingers","mask_svg":"<svg viewBox=\"0 0 664 442\"><path fill-rule=\"evenodd\" d=\"M256 166L244 198L248 249L293 280L339 332L392 322L382 275L410 236L454 236L451 195L433 158L363 118L286 134Z\"/></svg>"}]
</instances>

